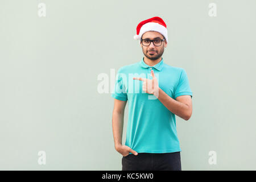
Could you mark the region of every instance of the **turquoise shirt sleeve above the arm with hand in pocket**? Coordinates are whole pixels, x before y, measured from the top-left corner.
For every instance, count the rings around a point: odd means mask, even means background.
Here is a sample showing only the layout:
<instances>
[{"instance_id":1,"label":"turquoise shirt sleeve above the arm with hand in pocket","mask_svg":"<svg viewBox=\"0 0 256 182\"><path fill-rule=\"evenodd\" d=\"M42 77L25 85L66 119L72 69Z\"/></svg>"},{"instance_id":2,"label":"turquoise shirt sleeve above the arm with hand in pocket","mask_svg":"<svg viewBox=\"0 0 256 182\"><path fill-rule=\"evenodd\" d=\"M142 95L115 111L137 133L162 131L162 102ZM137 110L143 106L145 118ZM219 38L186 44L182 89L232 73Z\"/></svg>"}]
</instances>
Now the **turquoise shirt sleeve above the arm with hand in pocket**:
<instances>
[{"instance_id":1,"label":"turquoise shirt sleeve above the arm with hand in pocket","mask_svg":"<svg viewBox=\"0 0 256 182\"><path fill-rule=\"evenodd\" d=\"M121 101L127 101L127 93L126 93L126 87L125 87L125 80L126 76L124 75L124 73L119 71L117 72L117 76L115 77L115 86L114 86L114 90L113 93L111 94L111 96L113 98L116 98L117 100L121 100Z\"/></svg>"}]
</instances>

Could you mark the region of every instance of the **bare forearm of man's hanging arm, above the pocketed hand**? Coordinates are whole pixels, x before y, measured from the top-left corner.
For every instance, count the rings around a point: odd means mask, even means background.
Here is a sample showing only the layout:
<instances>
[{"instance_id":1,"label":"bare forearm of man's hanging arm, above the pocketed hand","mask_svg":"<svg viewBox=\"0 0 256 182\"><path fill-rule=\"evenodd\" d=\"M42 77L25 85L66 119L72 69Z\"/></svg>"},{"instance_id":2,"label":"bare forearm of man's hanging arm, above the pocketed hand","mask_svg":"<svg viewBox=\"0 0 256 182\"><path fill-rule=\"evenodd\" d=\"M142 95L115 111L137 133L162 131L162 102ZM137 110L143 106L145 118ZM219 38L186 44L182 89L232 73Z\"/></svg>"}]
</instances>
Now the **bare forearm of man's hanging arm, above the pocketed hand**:
<instances>
[{"instance_id":1,"label":"bare forearm of man's hanging arm, above the pocketed hand","mask_svg":"<svg viewBox=\"0 0 256 182\"><path fill-rule=\"evenodd\" d=\"M122 144L123 117L124 113L118 113L117 111L113 111L112 128L115 148L118 145Z\"/></svg>"}]
</instances>

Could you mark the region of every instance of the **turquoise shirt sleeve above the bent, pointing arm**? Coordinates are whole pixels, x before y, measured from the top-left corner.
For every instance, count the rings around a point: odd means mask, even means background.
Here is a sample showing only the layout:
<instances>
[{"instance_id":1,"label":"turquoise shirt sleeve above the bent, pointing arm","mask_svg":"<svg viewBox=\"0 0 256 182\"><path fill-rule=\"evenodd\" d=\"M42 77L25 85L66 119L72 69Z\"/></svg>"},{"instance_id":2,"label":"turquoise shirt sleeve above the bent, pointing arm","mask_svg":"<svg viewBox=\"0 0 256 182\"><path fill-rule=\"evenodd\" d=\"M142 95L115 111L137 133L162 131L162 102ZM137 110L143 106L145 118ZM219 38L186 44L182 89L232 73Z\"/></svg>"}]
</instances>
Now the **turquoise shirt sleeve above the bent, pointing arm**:
<instances>
[{"instance_id":1,"label":"turquoise shirt sleeve above the bent, pointing arm","mask_svg":"<svg viewBox=\"0 0 256 182\"><path fill-rule=\"evenodd\" d=\"M188 76L184 69L181 71L180 79L174 92L174 98L183 95L189 95L192 98L192 91L189 86Z\"/></svg>"}]
</instances>

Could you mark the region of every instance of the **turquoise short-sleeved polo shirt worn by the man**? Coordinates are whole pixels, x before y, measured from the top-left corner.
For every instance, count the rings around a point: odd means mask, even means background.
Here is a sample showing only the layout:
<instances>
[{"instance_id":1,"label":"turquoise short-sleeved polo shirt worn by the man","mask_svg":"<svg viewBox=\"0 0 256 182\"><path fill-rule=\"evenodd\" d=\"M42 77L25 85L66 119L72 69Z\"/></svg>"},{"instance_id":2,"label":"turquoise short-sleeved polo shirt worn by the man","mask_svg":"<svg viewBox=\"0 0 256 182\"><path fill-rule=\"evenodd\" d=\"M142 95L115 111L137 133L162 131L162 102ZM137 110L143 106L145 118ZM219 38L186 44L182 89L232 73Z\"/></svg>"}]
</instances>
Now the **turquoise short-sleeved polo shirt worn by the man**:
<instances>
[{"instance_id":1,"label":"turquoise short-sleeved polo shirt worn by the man","mask_svg":"<svg viewBox=\"0 0 256 182\"><path fill-rule=\"evenodd\" d=\"M112 97L128 101L129 115L125 145L138 153L166 153L181 151L176 131L175 114L171 113L154 95L143 92L143 81L133 77L151 77L153 69L159 87L171 98L190 95L187 73L162 60L150 67L142 58L138 63L119 68ZM130 152L131 154L131 152Z\"/></svg>"}]
</instances>

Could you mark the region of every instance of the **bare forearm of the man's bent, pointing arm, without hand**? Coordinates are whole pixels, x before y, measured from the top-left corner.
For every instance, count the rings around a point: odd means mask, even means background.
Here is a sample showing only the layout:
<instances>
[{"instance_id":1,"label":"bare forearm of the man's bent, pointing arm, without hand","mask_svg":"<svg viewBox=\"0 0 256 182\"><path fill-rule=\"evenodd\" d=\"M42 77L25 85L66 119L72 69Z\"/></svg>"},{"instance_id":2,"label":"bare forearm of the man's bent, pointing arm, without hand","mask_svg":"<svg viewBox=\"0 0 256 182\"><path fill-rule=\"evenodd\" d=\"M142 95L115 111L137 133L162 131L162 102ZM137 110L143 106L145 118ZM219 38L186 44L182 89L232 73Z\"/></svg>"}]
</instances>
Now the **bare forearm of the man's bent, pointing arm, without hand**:
<instances>
[{"instance_id":1,"label":"bare forearm of the man's bent, pointing arm, without hand","mask_svg":"<svg viewBox=\"0 0 256 182\"><path fill-rule=\"evenodd\" d=\"M158 100L162 102L162 104L166 106L166 108L172 113L179 116L180 118L187 120L187 111L189 109L188 105L171 98L160 88L158 92Z\"/></svg>"}]
</instances>

